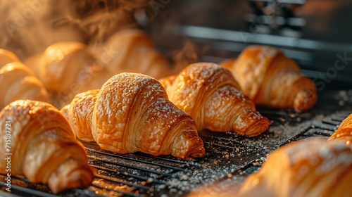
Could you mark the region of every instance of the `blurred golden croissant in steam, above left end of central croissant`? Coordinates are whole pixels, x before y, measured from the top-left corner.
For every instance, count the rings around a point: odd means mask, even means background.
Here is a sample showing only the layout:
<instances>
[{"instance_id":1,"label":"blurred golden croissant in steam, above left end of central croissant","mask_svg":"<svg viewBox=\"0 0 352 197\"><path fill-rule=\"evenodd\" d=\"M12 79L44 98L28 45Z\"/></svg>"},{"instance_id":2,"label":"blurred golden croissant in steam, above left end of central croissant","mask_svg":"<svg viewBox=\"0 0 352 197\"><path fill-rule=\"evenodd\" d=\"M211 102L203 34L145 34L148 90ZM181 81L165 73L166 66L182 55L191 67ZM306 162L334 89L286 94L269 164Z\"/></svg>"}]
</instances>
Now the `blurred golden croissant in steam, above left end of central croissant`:
<instances>
[{"instance_id":1,"label":"blurred golden croissant in steam, above left end of central croissant","mask_svg":"<svg viewBox=\"0 0 352 197\"><path fill-rule=\"evenodd\" d=\"M46 48L40 58L38 75L49 92L70 92L73 96L99 89L111 77L80 42L58 42Z\"/></svg>"}]
</instances>

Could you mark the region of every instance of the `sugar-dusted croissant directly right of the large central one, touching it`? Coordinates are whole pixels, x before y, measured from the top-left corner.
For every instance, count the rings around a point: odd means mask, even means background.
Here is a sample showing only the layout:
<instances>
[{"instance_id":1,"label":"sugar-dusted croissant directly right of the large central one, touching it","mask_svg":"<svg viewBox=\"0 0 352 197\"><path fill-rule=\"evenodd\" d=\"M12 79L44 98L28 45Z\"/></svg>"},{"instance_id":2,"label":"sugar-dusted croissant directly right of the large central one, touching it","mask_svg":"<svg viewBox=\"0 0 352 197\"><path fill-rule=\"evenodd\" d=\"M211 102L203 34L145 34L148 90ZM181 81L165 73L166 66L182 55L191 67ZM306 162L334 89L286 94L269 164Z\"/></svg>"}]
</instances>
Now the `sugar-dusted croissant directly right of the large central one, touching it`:
<instances>
[{"instance_id":1,"label":"sugar-dusted croissant directly right of the large central one, touching it","mask_svg":"<svg viewBox=\"0 0 352 197\"><path fill-rule=\"evenodd\" d=\"M241 93L231 72L215 63L193 63L159 80L170 101L194 118L198 129L257 136L270 125Z\"/></svg>"}]
</instances>

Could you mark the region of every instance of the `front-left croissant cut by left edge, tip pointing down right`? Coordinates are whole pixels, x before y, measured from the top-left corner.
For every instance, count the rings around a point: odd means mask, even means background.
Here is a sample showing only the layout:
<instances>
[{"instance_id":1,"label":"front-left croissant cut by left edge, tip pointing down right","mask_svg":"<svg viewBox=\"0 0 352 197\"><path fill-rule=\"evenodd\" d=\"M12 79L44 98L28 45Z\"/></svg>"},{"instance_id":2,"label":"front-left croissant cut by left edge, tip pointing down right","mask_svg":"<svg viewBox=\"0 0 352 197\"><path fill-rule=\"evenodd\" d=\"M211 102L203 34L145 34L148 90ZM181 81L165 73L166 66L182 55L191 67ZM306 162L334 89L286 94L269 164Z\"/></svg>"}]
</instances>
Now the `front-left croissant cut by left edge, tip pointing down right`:
<instances>
[{"instance_id":1,"label":"front-left croissant cut by left edge, tip pointing down right","mask_svg":"<svg viewBox=\"0 0 352 197\"><path fill-rule=\"evenodd\" d=\"M91 184L85 148L51 104L14 101L1 110L0 125L0 153L11 153L0 160L1 174L23 174L31 182L49 184L54 193Z\"/></svg>"}]
</instances>

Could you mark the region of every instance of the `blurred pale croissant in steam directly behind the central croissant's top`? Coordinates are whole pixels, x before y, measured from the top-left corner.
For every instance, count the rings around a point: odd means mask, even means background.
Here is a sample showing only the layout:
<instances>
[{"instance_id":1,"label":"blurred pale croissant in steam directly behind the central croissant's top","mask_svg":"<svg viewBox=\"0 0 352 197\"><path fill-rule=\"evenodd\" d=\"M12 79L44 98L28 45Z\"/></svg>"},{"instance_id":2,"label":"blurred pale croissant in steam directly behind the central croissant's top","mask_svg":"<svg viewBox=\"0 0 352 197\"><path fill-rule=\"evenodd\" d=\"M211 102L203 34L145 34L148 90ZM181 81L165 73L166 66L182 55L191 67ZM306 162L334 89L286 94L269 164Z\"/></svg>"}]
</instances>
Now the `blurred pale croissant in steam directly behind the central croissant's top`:
<instances>
[{"instance_id":1,"label":"blurred pale croissant in steam directly behind the central croissant's top","mask_svg":"<svg viewBox=\"0 0 352 197\"><path fill-rule=\"evenodd\" d=\"M172 72L168 60L156 50L142 30L126 29L113 34L99 56L114 75L136 72L161 78Z\"/></svg>"}]
</instances>

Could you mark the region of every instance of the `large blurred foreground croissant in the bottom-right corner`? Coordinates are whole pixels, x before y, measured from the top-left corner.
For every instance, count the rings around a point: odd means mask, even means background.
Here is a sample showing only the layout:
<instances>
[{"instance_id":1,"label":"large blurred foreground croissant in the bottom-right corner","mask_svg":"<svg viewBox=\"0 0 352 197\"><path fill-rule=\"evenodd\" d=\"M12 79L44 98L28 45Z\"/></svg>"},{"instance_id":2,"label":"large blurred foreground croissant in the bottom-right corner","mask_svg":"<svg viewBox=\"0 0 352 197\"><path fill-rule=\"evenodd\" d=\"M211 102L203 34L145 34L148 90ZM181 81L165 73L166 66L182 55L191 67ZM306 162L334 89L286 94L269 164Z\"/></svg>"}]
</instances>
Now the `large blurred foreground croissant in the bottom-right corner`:
<instances>
[{"instance_id":1,"label":"large blurred foreground croissant in the bottom-right corner","mask_svg":"<svg viewBox=\"0 0 352 197\"><path fill-rule=\"evenodd\" d=\"M340 141L304 139L270 153L239 196L351 196L352 149Z\"/></svg>"}]
</instances>

